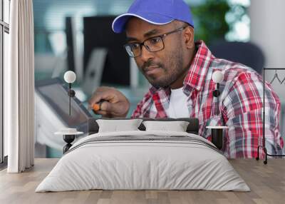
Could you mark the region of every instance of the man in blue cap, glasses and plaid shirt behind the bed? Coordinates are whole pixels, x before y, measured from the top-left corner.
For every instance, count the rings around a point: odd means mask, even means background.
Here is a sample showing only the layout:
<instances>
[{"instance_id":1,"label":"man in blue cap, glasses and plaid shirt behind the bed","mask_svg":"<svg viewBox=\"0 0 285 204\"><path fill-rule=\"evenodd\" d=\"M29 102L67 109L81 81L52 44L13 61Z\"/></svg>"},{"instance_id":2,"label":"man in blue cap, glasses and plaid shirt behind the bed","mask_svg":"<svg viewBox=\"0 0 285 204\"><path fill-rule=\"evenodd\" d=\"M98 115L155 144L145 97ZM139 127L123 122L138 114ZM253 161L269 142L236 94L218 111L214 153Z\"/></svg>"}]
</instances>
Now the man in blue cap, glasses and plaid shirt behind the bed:
<instances>
[{"instance_id":1,"label":"man in blue cap, glasses and plaid shirt behind the bed","mask_svg":"<svg viewBox=\"0 0 285 204\"><path fill-rule=\"evenodd\" d=\"M113 31L125 31L125 49L135 58L152 87L132 117L198 118L199 135L209 138L206 126L224 125L224 155L253 158L262 138L262 78L240 63L215 58L203 41L194 42L194 25L182 0L137 0L127 14L113 21ZM212 73L222 71L219 106L213 96ZM266 84L266 148L281 153L280 101ZM125 117L130 103L115 88L100 87L89 104L104 100L96 113ZM215 111L219 108L219 115Z\"/></svg>"}]
</instances>

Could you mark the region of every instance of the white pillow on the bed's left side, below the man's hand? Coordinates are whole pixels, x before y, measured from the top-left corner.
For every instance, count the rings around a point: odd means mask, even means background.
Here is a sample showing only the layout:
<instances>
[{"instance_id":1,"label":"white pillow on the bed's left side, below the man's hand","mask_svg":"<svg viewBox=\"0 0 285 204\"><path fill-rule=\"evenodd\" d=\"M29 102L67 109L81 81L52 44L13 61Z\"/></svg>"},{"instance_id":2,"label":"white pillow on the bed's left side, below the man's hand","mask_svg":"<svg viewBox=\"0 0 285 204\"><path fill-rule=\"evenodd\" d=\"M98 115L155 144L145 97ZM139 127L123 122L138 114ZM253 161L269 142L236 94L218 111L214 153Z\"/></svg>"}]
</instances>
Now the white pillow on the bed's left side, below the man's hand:
<instances>
[{"instance_id":1,"label":"white pillow on the bed's left side, below the man's hand","mask_svg":"<svg viewBox=\"0 0 285 204\"><path fill-rule=\"evenodd\" d=\"M99 126L99 133L119 132L119 131L139 131L138 127L142 119L132 120L96 120Z\"/></svg>"}]
</instances>

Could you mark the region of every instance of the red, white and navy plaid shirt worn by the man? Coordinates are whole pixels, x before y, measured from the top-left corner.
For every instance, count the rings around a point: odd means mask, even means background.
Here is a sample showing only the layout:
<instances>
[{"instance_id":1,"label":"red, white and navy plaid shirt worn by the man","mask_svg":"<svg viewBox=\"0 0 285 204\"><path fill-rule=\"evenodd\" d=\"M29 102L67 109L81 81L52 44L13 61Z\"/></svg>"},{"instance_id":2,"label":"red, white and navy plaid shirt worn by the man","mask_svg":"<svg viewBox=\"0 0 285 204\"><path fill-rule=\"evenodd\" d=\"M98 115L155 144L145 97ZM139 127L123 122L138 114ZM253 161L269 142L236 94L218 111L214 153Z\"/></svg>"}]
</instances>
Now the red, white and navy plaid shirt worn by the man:
<instances>
[{"instance_id":1,"label":"red, white and navy plaid shirt worn by the man","mask_svg":"<svg viewBox=\"0 0 285 204\"><path fill-rule=\"evenodd\" d=\"M206 126L228 126L222 151L227 158L254 158L262 144L263 79L252 68L215 58L203 41L197 41L197 53L185 77L183 92L188 97L190 118L199 119L199 136L210 140ZM213 96L214 71L224 73L219 85L219 106ZM279 133L281 104L269 83L265 86L265 136L269 153L282 153ZM132 118L167 118L170 88L151 87L138 103ZM151 108L155 106L154 110ZM219 115L217 115L217 107Z\"/></svg>"}]
</instances>

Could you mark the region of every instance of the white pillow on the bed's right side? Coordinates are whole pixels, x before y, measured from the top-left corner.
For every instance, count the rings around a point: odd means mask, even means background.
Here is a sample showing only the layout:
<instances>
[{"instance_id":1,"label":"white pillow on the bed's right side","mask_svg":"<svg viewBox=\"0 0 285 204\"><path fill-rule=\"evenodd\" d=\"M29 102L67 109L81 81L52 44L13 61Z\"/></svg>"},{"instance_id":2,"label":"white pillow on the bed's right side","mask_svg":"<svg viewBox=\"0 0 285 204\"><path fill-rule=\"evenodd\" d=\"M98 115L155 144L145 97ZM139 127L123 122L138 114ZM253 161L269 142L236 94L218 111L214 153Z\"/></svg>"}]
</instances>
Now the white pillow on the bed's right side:
<instances>
[{"instance_id":1,"label":"white pillow on the bed's right side","mask_svg":"<svg viewBox=\"0 0 285 204\"><path fill-rule=\"evenodd\" d=\"M175 131L186 132L187 121L143 121L145 131Z\"/></svg>"}]
</instances>

